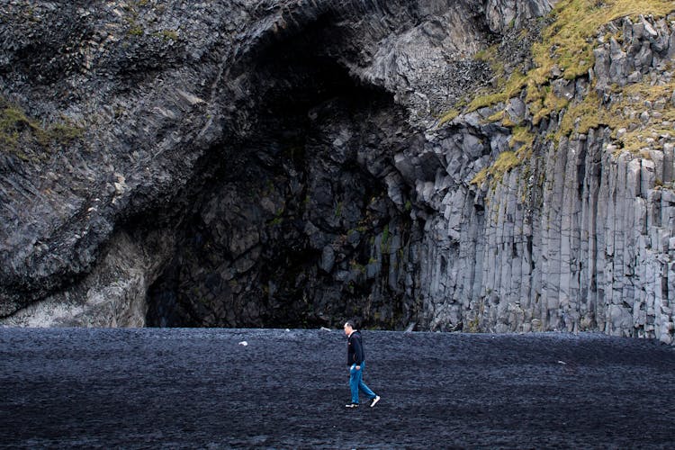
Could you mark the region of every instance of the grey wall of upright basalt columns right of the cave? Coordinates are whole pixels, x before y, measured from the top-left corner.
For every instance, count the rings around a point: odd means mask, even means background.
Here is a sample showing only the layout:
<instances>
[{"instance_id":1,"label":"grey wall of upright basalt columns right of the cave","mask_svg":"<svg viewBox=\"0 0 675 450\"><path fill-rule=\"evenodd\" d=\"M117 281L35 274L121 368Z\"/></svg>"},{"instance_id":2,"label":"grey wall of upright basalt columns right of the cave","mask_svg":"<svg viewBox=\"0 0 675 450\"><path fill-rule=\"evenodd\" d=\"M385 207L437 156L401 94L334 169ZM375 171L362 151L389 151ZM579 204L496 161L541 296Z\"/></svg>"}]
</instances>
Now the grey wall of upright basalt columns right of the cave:
<instances>
[{"instance_id":1,"label":"grey wall of upright basalt columns right of the cave","mask_svg":"<svg viewBox=\"0 0 675 450\"><path fill-rule=\"evenodd\" d=\"M595 89L610 104L618 94L608 86L648 80L665 85L671 102L672 24L617 26L632 38L596 49ZM577 98L592 89L583 80L563 83ZM591 329L672 342L675 130L661 114L663 99L627 108L635 109L625 111L630 117L653 118L643 123L650 138L639 151L617 147L617 135L605 127L545 139L563 119L553 117L539 126L532 157L480 186L470 180L482 160L457 155L475 157L482 147L493 162L511 149L503 134L481 125L493 110L455 120L434 139L448 165L423 197L438 211L427 224L420 282L432 329ZM638 129L639 121L630 127ZM474 135L482 144L461 149Z\"/></svg>"}]
</instances>

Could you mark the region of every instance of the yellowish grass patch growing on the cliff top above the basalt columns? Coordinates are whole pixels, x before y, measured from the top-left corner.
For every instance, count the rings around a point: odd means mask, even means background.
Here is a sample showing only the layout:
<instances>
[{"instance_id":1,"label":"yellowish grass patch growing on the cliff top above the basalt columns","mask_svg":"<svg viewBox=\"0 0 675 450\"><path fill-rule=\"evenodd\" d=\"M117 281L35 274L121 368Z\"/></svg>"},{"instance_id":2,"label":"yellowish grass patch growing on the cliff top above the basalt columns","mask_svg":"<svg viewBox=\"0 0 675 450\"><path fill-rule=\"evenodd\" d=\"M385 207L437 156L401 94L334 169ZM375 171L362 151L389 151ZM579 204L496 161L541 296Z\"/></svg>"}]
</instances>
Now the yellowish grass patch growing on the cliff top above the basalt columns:
<instances>
[{"instance_id":1,"label":"yellowish grass patch growing on the cliff top above the basalt columns","mask_svg":"<svg viewBox=\"0 0 675 450\"><path fill-rule=\"evenodd\" d=\"M563 119L554 138L562 139L572 132L586 133L591 128L607 125L613 130L628 127L629 121L635 120L626 114L631 101L640 98L640 102L652 102L668 98L673 92L672 83L664 86L652 86L648 83L629 85L621 89L624 97L620 102L603 106L595 92L592 92L583 101L574 102L554 93L551 85L556 77L565 80L574 80L586 76L595 64L593 49L596 47L597 35L601 27L621 17L636 18L640 14L662 17L675 10L675 3L671 0L561 0L551 12L551 23L542 32L541 41L532 47L534 67L524 73L518 67L510 74L504 73L504 65L497 54L497 46L486 49L477 55L477 58L489 63L497 76L497 85L490 92L477 95L469 102L463 111L453 110L441 118L439 124L450 121L460 113L473 112L483 107L506 103L509 98L519 96L525 92L525 102L532 114L532 124L540 121L554 112L564 112ZM616 37L617 40L621 36ZM662 112L662 120L675 120L675 113L666 108ZM495 112L489 121L501 121L502 125L513 127L509 116L505 112ZM644 130L627 131L618 139L624 148L635 150L641 147L641 142L653 139L658 130L644 136ZM534 136L526 127L515 127L511 137L511 148L522 146L518 152L505 152L490 167L484 168L476 175L472 183L481 184L488 176L501 179L504 173L526 160L531 153Z\"/></svg>"}]
</instances>

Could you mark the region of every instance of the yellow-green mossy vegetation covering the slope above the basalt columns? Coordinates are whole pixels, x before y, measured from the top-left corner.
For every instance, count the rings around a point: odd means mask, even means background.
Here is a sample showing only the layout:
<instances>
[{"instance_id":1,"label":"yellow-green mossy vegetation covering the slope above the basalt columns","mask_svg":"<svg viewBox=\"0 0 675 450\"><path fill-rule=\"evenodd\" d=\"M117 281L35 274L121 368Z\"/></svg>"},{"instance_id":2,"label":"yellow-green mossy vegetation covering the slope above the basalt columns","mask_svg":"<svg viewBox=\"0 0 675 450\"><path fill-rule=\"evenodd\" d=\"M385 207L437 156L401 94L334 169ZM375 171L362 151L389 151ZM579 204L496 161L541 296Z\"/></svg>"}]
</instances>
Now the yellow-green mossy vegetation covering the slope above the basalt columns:
<instances>
[{"instance_id":1,"label":"yellow-green mossy vegetation covering the slope above the basalt columns","mask_svg":"<svg viewBox=\"0 0 675 450\"><path fill-rule=\"evenodd\" d=\"M498 112L491 114L488 121L500 122L502 126L512 128L510 147L524 145L531 147L534 135L527 125L513 128L514 123L506 114L509 99L520 97L527 104L530 127L555 114L560 123L553 135L555 142L569 137L573 133L584 134L591 128L607 126L614 130L613 138L617 147L637 152L650 142L662 136L675 134L672 121L675 120L675 106L671 95L675 91L672 79L654 81L648 77L628 85L612 85L611 95L600 98L596 90L596 80L590 75L595 64L594 49L602 42L616 40L623 42L622 30L617 26L608 26L622 18L643 20L649 16L660 18L675 10L672 2L663 0L608 0L599 3L594 0L563 0L552 13L548 25L542 32L541 40L532 48L529 61L533 67L525 69L520 64L510 74L506 73L503 57L498 46L483 50L476 58L490 64L495 74L494 86L475 96L466 103L463 111L451 110L440 120L439 125L454 120L461 113L497 106ZM578 78L589 83L588 92L583 98L572 98L556 92L554 83L573 84ZM572 85L572 92L574 91ZM656 114L641 114L640 105L657 105ZM639 119L637 116L640 116ZM625 129L625 130L624 130ZM622 130L617 135L617 130ZM509 152L507 157L498 157L491 167L482 169L472 184L481 184L488 175L491 179L501 179L501 171L509 171L526 160L527 148L519 156ZM509 164L504 164L505 161ZM519 161L519 162L518 162Z\"/></svg>"}]
</instances>

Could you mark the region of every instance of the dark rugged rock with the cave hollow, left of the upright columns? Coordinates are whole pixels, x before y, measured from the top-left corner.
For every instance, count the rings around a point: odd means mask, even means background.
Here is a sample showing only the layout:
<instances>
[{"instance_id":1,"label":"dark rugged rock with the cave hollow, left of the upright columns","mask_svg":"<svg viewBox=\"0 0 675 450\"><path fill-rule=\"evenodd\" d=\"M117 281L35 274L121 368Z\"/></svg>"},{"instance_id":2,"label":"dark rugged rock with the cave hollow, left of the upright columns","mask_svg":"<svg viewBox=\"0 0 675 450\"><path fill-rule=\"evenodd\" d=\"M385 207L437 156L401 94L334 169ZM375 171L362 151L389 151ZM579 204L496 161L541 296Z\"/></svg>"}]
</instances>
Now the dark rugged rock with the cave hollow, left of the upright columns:
<instances>
[{"instance_id":1,"label":"dark rugged rock with the cave hollow, left of the upright columns","mask_svg":"<svg viewBox=\"0 0 675 450\"><path fill-rule=\"evenodd\" d=\"M19 117L0 161L5 324L418 315L424 218L392 155L485 82L482 2L1 7L3 112ZM156 232L175 248L146 261ZM145 276L112 295L98 271L124 236L138 251L118 274ZM108 317L100 291L137 317ZM69 321L49 312L64 298Z\"/></svg>"}]
</instances>

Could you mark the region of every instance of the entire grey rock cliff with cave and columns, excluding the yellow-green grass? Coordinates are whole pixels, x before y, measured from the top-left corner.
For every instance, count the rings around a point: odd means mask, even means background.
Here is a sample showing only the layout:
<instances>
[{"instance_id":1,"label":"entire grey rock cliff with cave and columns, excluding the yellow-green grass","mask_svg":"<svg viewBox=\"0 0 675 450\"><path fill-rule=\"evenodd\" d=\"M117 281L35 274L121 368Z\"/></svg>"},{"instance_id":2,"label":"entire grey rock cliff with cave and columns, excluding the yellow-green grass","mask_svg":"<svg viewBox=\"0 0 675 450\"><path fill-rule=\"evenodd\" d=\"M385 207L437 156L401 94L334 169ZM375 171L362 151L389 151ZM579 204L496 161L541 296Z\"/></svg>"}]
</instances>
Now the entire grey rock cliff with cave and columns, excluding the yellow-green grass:
<instances>
[{"instance_id":1,"label":"entire grey rock cliff with cave and columns, excluding the yellow-green grass","mask_svg":"<svg viewBox=\"0 0 675 450\"><path fill-rule=\"evenodd\" d=\"M671 342L669 20L608 24L599 36L620 29L624 39L595 42L588 73L554 75L567 110L535 118L517 92L437 121L499 81L479 51L501 42L529 58L521 31L551 7L0 6L3 322L356 317ZM629 90L647 80L663 92ZM635 128L581 130L580 113L573 132L550 139L590 94L623 101L617 85L640 100L622 110ZM512 123L532 134L517 163ZM637 132L637 151L617 147L617 134Z\"/></svg>"}]
</instances>

